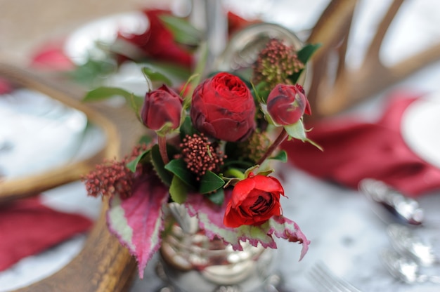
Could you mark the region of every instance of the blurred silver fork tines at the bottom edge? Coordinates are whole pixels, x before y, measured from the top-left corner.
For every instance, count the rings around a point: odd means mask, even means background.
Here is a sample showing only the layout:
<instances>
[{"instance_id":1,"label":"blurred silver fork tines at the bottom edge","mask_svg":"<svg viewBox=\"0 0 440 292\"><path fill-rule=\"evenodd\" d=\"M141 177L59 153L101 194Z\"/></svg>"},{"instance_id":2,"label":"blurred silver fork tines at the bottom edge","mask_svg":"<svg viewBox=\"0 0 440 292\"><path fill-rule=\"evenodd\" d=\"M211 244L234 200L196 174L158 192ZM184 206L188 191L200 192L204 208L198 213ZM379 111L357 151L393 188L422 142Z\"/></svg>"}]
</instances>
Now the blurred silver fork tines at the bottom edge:
<instances>
[{"instance_id":1,"label":"blurred silver fork tines at the bottom edge","mask_svg":"<svg viewBox=\"0 0 440 292\"><path fill-rule=\"evenodd\" d=\"M349 284L344 279L337 277L330 269L321 262L316 263L310 270L309 276L322 291L328 292L361 292L358 288Z\"/></svg>"}]
</instances>

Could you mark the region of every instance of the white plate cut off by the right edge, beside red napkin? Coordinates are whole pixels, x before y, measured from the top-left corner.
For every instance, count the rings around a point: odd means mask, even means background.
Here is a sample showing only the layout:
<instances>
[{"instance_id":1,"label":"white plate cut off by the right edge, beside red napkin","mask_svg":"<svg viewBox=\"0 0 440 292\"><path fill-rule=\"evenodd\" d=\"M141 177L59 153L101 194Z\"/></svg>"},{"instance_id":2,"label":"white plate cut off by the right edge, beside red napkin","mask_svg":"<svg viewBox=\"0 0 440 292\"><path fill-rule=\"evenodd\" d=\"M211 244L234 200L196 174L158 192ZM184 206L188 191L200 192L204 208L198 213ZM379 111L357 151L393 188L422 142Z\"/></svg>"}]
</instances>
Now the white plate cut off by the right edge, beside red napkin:
<instances>
[{"instance_id":1,"label":"white plate cut off by the right edge, beside red napkin","mask_svg":"<svg viewBox=\"0 0 440 292\"><path fill-rule=\"evenodd\" d=\"M440 168L440 92L416 100L406 109L401 133L415 154Z\"/></svg>"}]
</instances>

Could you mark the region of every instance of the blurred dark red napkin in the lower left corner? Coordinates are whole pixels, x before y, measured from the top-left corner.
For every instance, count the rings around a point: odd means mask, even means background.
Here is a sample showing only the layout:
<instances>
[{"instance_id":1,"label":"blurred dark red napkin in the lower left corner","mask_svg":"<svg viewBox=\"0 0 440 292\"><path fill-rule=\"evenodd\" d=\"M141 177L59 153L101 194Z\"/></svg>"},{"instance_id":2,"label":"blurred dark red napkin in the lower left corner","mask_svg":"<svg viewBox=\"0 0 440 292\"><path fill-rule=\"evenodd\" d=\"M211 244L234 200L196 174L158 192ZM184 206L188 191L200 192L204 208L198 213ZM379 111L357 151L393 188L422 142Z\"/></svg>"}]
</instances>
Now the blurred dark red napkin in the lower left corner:
<instances>
[{"instance_id":1,"label":"blurred dark red napkin in the lower left corner","mask_svg":"<svg viewBox=\"0 0 440 292\"><path fill-rule=\"evenodd\" d=\"M48 208L39 197L0 206L0 271L89 227L88 218Z\"/></svg>"}]
</instances>

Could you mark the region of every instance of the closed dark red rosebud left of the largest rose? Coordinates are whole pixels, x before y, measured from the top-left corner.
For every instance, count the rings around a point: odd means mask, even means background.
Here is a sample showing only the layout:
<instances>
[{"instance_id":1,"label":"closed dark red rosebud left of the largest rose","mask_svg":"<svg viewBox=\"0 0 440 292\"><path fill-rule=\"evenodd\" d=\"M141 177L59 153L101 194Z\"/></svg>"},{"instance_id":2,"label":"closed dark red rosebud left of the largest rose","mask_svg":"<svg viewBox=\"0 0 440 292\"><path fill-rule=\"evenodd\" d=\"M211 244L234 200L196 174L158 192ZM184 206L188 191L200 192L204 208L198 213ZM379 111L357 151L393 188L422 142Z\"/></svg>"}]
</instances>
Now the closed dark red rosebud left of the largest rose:
<instances>
[{"instance_id":1,"label":"closed dark red rosebud left of the largest rose","mask_svg":"<svg viewBox=\"0 0 440 292\"><path fill-rule=\"evenodd\" d=\"M157 131L169 123L176 129L180 126L181 114L182 99L168 86L162 85L145 94L141 119L147 128Z\"/></svg>"}]
</instances>

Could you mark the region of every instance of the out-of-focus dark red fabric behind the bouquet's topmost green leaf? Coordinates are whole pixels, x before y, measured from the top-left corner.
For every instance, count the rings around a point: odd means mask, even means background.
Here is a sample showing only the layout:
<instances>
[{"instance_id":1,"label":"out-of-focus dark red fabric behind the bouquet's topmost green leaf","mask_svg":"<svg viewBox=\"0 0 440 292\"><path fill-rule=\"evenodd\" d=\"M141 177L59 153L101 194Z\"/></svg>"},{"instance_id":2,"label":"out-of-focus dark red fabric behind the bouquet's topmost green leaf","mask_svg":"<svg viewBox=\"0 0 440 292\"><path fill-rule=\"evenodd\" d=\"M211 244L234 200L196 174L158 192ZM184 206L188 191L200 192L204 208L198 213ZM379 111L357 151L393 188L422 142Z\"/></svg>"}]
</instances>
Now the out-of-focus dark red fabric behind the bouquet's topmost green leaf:
<instances>
[{"instance_id":1,"label":"out-of-focus dark red fabric behind the bouquet's topmost green leaf","mask_svg":"<svg viewBox=\"0 0 440 292\"><path fill-rule=\"evenodd\" d=\"M160 15L171 14L170 11L152 9L143 11L150 23L142 34L118 35L119 39L129 41L145 54L146 58L174 62L190 67L193 64L192 54L174 41L172 32L160 20Z\"/></svg>"}]
</instances>

